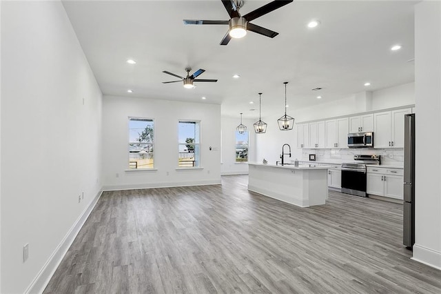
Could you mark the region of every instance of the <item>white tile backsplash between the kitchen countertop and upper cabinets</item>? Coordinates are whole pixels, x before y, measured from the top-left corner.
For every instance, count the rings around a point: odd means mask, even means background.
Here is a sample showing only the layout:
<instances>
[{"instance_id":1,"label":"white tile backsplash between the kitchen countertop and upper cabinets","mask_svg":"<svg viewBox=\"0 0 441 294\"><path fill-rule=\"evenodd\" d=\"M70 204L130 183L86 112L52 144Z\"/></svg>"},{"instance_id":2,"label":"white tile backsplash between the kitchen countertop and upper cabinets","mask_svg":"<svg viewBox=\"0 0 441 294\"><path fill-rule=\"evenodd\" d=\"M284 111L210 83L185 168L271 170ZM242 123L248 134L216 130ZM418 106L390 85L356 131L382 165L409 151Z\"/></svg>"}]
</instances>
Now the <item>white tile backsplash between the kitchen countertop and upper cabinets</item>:
<instances>
[{"instance_id":1,"label":"white tile backsplash between the kitchen countertop and upper cabinets","mask_svg":"<svg viewBox=\"0 0 441 294\"><path fill-rule=\"evenodd\" d=\"M403 166L404 149L373 149L373 148L351 148L351 149L303 149L302 161L309 161L309 155L315 154L316 161L342 164L353 161L353 155L381 155L381 164L391 166Z\"/></svg>"}]
</instances>

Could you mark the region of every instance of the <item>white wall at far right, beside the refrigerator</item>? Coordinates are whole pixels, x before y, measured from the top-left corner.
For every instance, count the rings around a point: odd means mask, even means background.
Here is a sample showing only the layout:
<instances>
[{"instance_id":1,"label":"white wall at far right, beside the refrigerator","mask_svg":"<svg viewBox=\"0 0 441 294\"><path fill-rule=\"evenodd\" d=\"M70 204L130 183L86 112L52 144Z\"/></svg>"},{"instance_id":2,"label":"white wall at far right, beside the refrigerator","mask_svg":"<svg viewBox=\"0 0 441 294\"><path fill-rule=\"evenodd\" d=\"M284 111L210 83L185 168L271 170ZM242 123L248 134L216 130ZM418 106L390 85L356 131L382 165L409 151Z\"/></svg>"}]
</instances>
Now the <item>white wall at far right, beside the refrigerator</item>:
<instances>
[{"instance_id":1,"label":"white wall at far right, beside the refrigerator","mask_svg":"<svg viewBox=\"0 0 441 294\"><path fill-rule=\"evenodd\" d=\"M441 3L423 1L415 8L416 244L413 258L441 269L441 136L436 135L441 135Z\"/></svg>"}]
</instances>

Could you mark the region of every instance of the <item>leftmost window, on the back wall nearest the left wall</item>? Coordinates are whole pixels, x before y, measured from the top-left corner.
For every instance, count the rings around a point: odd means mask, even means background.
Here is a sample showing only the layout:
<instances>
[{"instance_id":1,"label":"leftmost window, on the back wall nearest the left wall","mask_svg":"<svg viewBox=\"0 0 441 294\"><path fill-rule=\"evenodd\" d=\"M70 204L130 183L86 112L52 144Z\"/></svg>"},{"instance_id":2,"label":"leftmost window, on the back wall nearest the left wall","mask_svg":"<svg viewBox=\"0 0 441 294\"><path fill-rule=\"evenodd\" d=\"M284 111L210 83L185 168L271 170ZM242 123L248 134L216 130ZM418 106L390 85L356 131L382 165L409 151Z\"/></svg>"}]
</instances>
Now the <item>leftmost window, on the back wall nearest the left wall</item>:
<instances>
[{"instance_id":1,"label":"leftmost window, on the back wall nearest the left wall","mask_svg":"<svg viewBox=\"0 0 441 294\"><path fill-rule=\"evenodd\" d=\"M154 168L153 119L129 118L129 168Z\"/></svg>"}]
</instances>

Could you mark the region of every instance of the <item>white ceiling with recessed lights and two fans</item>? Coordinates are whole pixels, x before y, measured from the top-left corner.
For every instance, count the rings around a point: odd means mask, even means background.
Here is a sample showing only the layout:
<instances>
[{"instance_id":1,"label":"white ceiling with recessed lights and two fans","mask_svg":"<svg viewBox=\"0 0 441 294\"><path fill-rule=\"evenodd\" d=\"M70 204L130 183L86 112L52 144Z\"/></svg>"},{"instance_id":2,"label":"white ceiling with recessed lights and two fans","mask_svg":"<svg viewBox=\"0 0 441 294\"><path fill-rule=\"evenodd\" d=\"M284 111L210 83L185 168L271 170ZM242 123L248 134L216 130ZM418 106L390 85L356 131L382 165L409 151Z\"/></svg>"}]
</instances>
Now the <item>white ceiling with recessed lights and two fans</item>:
<instances>
[{"instance_id":1,"label":"white ceiling with recessed lights and two fans","mask_svg":"<svg viewBox=\"0 0 441 294\"><path fill-rule=\"evenodd\" d=\"M270 1L245 1L244 15ZM222 104L222 114L258 117L379 90L414 80L413 6L418 1L298 1L252 23L278 32L248 32L227 46L228 26L190 26L183 19L228 20L220 0L63 1L104 95ZM318 19L320 26L306 24ZM400 43L398 52L390 50ZM137 61L127 64L127 59ZM162 84L203 68L217 83ZM238 73L240 79L233 79ZM366 81L371 86L365 87ZM311 91L322 87L323 90ZM132 89L133 93L127 93ZM321 95L322 99L316 99ZM202 100L201 97L207 97ZM255 104L249 104L254 101ZM250 111L257 108L257 111Z\"/></svg>"}]
</instances>

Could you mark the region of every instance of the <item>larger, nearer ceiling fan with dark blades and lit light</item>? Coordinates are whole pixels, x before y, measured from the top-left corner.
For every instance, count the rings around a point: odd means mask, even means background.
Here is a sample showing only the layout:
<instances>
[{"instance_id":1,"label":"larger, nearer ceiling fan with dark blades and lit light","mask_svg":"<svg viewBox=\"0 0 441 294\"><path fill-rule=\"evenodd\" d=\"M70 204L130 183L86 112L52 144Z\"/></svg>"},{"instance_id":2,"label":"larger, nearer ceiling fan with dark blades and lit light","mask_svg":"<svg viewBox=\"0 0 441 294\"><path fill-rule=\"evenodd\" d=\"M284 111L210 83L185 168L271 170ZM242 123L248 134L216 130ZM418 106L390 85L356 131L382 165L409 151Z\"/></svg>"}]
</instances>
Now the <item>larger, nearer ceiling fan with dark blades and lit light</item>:
<instances>
[{"instance_id":1,"label":"larger, nearer ceiling fan with dark blades and lit light","mask_svg":"<svg viewBox=\"0 0 441 294\"><path fill-rule=\"evenodd\" d=\"M291 3L293 0L275 0L266 5L257 8L256 10L241 16L239 13L240 8L242 8L245 1L243 0L222 0L223 6L227 10L229 14L229 21L209 21L209 20L194 20L194 19L184 19L184 24L221 24L221 25L229 25L229 30L227 35L225 35L220 41L220 45L227 45L229 40L232 38L242 38L247 35L247 30L252 32L257 32L260 35L264 35L270 38L274 38L278 35L278 32L274 32L272 30L268 30L267 28L262 28L261 26L256 26L254 23L250 23L254 19L261 17L273 10L276 10L282 6L285 6Z\"/></svg>"}]
</instances>

